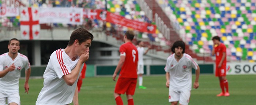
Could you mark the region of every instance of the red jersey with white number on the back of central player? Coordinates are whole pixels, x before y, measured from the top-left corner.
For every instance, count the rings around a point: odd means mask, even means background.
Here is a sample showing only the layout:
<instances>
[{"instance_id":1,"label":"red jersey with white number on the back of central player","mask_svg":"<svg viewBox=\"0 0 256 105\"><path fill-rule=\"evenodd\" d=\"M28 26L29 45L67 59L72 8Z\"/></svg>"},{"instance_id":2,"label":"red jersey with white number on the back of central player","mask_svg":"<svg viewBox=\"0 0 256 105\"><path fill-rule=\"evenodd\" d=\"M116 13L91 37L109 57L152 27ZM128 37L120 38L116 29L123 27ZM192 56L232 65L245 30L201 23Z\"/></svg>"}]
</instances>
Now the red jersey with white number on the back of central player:
<instances>
[{"instance_id":1,"label":"red jersey with white number on the back of central player","mask_svg":"<svg viewBox=\"0 0 256 105\"><path fill-rule=\"evenodd\" d=\"M120 47L120 54L125 52L125 61L119 77L137 78L138 50L132 42L125 43Z\"/></svg>"}]
</instances>

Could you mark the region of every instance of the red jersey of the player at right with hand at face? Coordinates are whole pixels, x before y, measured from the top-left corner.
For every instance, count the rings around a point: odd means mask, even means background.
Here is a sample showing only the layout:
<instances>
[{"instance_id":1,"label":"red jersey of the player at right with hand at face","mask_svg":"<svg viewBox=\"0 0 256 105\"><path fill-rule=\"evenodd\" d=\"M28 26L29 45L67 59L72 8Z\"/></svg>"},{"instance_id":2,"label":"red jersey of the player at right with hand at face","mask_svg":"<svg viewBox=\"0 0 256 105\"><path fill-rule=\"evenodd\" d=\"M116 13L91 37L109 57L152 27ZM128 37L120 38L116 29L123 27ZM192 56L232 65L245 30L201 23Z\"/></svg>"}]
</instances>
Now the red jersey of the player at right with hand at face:
<instances>
[{"instance_id":1,"label":"red jersey of the player at right with hand at face","mask_svg":"<svg viewBox=\"0 0 256 105\"><path fill-rule=\"evenodd\" d=\"M215 56L216 56L216 66L218 66L219 62L221 62L223 52L226 52L226 46L223 43L221 43L219 46L215 47L214 50L215 50ZM225 57L222 65L226 66L226 63L227 63L227 59Z\"/></svg>"}]
</instances>

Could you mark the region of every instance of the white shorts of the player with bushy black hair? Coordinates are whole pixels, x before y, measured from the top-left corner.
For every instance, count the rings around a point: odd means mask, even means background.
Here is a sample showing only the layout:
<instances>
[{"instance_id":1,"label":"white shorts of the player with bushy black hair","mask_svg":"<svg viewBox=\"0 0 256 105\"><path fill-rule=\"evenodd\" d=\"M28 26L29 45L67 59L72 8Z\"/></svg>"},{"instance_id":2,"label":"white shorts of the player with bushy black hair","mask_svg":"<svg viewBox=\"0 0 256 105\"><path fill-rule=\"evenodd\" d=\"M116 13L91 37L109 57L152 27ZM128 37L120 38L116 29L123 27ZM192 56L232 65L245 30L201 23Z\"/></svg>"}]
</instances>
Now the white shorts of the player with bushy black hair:
<instances>
[{"instance_id":1,"label":"white shorts of the player with bushy black hair","mask_svg":"<svg viewBox=\"0 0 256 105\"><path fill-rule=\"evenodd\" d=\"M169 89L169 102L180 101L181 105L188 105L190 91L176 91Z\"/></svg>"}]
</instances>

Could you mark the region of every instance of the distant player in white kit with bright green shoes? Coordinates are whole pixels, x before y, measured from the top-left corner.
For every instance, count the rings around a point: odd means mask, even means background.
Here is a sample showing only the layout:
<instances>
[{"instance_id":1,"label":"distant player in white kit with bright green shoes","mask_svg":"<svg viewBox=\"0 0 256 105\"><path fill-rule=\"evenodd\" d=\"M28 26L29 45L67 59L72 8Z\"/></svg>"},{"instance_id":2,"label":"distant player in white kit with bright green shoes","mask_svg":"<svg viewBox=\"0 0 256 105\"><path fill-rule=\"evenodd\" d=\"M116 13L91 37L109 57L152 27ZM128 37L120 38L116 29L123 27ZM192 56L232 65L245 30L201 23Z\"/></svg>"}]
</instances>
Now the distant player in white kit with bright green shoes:
<instances>
[{"instance_id":1,"label":"distant player in white kit with bright green shoes","mask_svg":"<svg viewBox=\"0 0 256 105\"><path fill-rule=\"evenodd\" d=\"M147 89L147 87L143 86L143 74L144 74L144 62L143 62L143 55L146 55L148 50L150 50L151 46L148 46L147 50L144 51L144 43L142 41L137 42L137 50L139 53L139 61L138 61L138 72L137 74L139 75L139 89Z\"/></svg>"}]
</instances>

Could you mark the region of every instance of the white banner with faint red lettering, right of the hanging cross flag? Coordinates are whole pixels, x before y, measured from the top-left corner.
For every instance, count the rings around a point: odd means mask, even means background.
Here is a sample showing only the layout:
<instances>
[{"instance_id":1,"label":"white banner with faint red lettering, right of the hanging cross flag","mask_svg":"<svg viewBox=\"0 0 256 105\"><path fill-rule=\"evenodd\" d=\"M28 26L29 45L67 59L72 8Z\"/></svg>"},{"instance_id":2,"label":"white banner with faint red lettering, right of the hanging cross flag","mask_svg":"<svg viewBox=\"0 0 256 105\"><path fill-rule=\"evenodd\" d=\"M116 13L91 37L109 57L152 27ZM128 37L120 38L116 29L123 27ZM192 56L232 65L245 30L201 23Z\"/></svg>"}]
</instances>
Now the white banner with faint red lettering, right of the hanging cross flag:
<instances>
[{"instance_id":1,"label":"white banner with faint red lettering, right of the hanging cross flag","mask_svg":"<svg viewBox=\"0 0 256 105\"><path fill-rule=\"evenodd\" d=\"M39 23L82 24L83 8L40 8Z\"/></svg>"}]
</instances>

